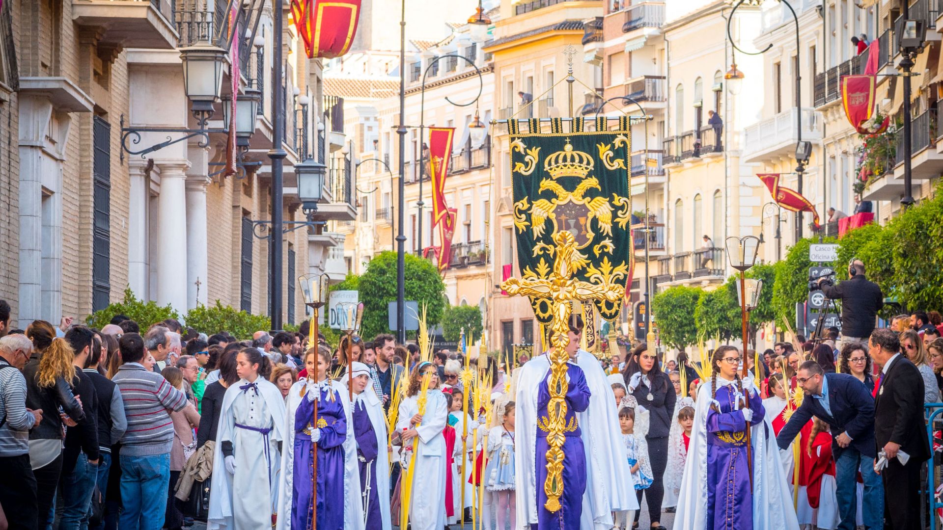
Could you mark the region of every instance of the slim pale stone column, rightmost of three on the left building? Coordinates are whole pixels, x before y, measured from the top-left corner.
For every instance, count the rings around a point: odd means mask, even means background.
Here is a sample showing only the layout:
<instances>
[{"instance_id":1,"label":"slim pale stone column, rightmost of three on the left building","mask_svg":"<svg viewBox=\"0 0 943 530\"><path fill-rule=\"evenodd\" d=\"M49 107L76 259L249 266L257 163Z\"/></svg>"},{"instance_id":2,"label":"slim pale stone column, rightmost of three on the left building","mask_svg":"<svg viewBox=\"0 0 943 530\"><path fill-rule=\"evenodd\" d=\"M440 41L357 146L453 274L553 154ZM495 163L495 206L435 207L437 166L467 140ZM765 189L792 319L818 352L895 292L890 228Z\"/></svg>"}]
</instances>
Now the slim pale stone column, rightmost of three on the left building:
<instances>
[{"instance_id":1,"label":"slim pale stone column, rightmost of three on the left building","mask_svg":"<svg viewBox=\"0 0 943 530\"><path fill-rule=\"evenodd\" d=\"M207 184L206 175L187 176L188 309L197 302L207 305Z\"/></svg>"}]
</instances>

